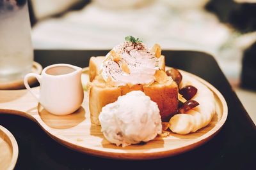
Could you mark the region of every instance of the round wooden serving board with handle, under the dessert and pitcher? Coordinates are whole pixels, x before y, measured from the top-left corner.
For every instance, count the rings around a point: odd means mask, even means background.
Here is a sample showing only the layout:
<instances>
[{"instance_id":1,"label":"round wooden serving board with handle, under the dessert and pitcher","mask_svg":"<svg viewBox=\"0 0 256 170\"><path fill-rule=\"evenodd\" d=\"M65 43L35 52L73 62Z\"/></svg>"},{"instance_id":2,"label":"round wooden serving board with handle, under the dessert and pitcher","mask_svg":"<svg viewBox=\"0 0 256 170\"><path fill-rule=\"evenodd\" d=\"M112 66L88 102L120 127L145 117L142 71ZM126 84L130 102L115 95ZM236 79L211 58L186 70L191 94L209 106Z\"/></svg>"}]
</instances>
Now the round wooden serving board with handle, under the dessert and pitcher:
<instances>
[{"instance_id":1,"label":"round wooden serving board with handle, under the dessert and pitcher","mask_svg":"<svg viewBox=\"0 0 256 170\"><path fill-rule=\"evenodd\" d=\"M87 69L84 69L86 72ZM193 74L214 92L216 115L207 127L187 135L170 133L163 138L157 136L145 145L131 145L125 148L109 143L100 132L100 126L90 123L88 93L84 92L84 102L76 113L56 116L44 110L27 90L0 90L0 113L10 113L30 118L44 129L52 139L73 150L112 159L157 159L187 152L204 144L220 131L227 119L227 103L220 92L210 83ZM86 75L85 75L86 76ZM35 92L39 87L33 88Z\"/></svg>"}]
</instances>

